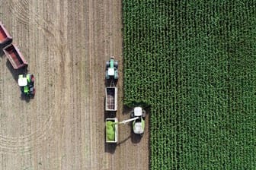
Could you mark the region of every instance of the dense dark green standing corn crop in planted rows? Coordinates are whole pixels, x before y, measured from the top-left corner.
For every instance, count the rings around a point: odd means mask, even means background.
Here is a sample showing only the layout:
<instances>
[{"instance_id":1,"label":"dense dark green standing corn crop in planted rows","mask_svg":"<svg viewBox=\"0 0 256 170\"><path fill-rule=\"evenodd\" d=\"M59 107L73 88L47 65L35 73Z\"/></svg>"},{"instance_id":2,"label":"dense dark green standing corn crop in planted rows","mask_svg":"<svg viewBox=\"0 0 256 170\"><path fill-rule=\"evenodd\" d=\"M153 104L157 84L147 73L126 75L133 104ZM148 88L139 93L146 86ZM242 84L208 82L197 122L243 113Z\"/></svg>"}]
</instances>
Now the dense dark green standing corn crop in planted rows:
<instances>
[{"instance_id":1,"label":"dense dark green standing corn crop in planted rows","mask_svg":"<svg viewBox=\"0 0 256 170\"><path fill-rule=\"evenodd\" d=\"M151 169L255 169L255 0L123 0L123 39Z\"/></svg>"}]
</instances>

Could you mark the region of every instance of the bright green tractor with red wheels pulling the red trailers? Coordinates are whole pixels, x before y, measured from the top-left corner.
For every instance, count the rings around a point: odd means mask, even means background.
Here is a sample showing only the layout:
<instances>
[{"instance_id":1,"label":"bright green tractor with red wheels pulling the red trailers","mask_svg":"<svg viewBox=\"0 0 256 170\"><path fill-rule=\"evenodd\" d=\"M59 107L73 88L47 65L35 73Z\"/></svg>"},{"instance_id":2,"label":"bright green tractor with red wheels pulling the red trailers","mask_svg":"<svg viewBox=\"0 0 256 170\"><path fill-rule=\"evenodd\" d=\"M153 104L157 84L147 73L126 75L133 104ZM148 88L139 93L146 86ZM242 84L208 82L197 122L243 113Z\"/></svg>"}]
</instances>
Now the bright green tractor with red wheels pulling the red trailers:
<instances>
[{"instance_id":1,"label":"bright green tractor with red wheels pulling the red trailers","mask_svg":"<svg viewBox=\"0 0 256 170\"><path fill-rule=\"evenodd\" d=\"M21 88L21 94L24 96L34 97L36 89L34 88L33 74L20 74L18 76L18 85Z\"/></svg>"}]
</instances>

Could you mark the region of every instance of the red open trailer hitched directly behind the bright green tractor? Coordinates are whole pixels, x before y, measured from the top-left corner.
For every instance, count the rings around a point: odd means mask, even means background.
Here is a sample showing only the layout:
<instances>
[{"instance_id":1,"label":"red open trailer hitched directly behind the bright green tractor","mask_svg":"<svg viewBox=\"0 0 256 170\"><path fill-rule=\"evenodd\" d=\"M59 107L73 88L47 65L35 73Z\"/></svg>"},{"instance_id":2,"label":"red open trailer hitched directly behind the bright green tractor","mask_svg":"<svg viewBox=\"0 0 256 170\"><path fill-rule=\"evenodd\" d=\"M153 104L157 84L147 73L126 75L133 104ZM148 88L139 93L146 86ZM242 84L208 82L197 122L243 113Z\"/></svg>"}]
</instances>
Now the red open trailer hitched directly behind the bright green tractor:
<instances>
[{"instance_id":1,"label":"red open trailer hitched directly behind the bright green tractor","mask_svg":"<svg viewBox=\"0 0 256 170\"><path fill-rule=\"evenodd\" d=\"M9 46L6 46L3 50L14 69L27 67L27 61L25 60L24 56L21 54L17 46L11 44Z\"/></svg>"}]
</instances>

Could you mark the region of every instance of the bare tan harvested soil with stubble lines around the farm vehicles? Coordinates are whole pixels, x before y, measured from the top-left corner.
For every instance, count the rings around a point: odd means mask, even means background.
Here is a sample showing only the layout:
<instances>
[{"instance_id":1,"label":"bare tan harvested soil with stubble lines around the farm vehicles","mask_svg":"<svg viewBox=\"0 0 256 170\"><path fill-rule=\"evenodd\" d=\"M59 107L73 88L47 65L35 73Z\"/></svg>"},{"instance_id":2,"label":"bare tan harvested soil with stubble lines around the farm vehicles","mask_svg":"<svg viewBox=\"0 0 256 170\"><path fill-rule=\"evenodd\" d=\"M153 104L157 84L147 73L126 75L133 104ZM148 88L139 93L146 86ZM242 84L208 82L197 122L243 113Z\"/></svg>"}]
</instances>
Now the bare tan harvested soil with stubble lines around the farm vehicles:
<instances>
[{"instance_id":1,"label":"bare tan harvested soil with stubble lines around the farm vehicles","mask_svg":"<svg viewBox=\"0 0 256 170\"><path fill-rule=\"evenodd\" d=\"M0 169L149 169L149 120L142 138L119 126L105 143L105 61L120 61L117 118L123 111L121 0L0 0L0 20L36 77L34 99L0 57Z\"/></svg>"}]
</instances>

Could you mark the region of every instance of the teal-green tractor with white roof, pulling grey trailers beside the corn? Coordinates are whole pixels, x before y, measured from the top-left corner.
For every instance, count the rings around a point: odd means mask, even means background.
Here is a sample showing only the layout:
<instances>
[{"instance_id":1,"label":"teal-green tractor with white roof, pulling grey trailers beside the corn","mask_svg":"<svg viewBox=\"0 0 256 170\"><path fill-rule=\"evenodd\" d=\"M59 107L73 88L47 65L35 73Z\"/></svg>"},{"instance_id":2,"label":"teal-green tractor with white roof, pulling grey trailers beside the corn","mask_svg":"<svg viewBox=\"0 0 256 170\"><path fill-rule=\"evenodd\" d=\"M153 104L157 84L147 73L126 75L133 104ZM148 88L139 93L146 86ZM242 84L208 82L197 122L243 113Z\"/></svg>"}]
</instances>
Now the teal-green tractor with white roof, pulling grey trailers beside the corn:
<instances>
[{"instance_id":1,"label":"teal-green tractor with white roof, pulling grey trailers beside the corn","mask_svg":"<svg viewBox=\"0 0 256 170\"><path fill-rule=\"evenodd\" d=\"M110 57L110 60L106 62L106 79L118 79L118 61L114 60L114 57Z\"/></svg>"}]
</instances>

